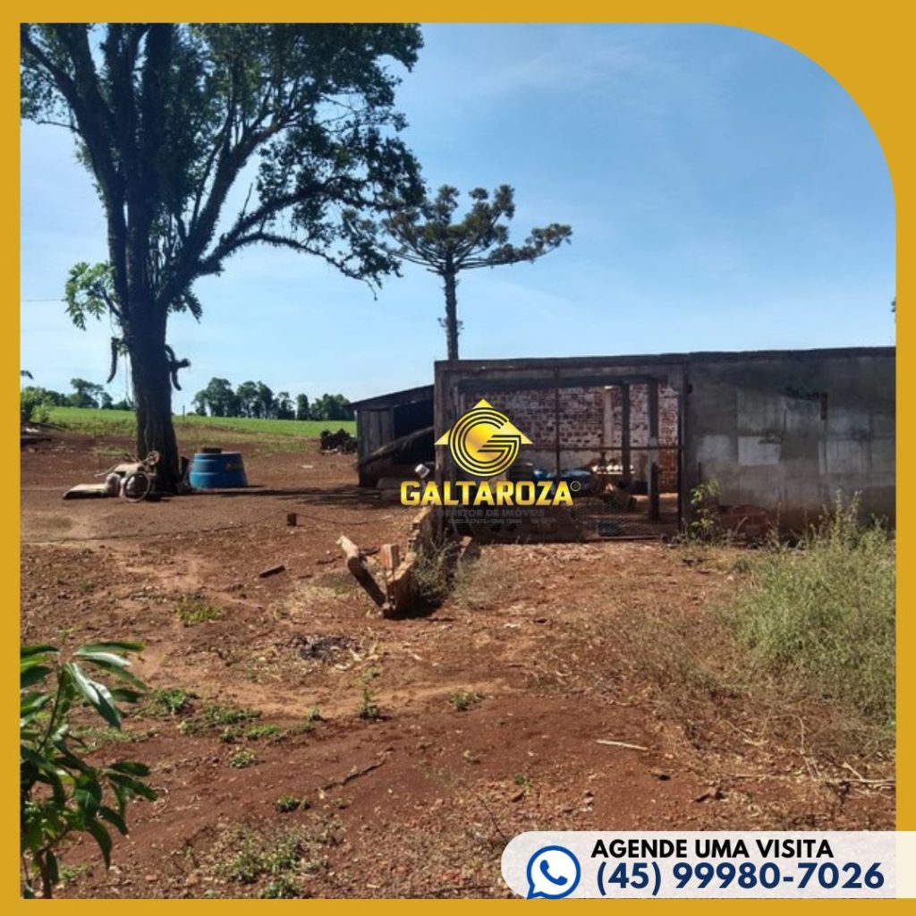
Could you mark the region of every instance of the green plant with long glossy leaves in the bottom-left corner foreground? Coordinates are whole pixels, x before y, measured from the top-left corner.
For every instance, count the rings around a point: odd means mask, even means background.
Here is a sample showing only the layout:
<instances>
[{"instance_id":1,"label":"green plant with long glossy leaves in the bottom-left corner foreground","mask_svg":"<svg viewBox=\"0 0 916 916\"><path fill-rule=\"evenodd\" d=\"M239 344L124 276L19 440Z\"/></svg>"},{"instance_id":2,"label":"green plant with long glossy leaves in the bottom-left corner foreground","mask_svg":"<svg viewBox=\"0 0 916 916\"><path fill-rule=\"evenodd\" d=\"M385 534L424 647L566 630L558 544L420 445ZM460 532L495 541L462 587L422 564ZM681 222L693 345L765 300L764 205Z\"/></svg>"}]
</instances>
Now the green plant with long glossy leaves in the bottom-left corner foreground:
<instances>
[{"instance_id":1,"label":"green plant with long glossy leaves in the bottom-left corner foreground","mask_svg":"<svg viewBox=\"0 0 916 916\"><path fill-rule=\"evenodd\" d=\"M60 881L58 853L71 834L90 834L111 865L109 827L127 833L125 810L136 796L156 799L143 778L142 763L118 761L95 766L81 756L84 742L71 733L71 713L91 707L112 728L120 729L118 703L136 703L146 685L127 671L135 642L100 642L82 646L66 661L54 646L20 649L19 813L24 894L49 898ZM126 686L95 680L111 675ZM114 804L114 807L113 807Z\"/></svg>"}]
</instances>

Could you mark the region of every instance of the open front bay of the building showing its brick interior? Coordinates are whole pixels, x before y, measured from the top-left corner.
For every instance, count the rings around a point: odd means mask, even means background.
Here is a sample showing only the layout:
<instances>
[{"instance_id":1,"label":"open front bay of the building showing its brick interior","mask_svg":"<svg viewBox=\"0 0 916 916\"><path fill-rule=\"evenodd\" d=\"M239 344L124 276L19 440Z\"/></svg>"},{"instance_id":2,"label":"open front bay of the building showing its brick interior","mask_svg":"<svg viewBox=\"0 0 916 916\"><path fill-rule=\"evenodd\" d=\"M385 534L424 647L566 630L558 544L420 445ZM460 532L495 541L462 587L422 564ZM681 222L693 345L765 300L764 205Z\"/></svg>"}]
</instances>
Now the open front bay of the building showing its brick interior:
<instances>
[{"instance_id":1,"label":"open front bay of the building showing its brick interior","mask_svg":"<svg viewBox=\"0 0 916 916\"><path fill-rule=\"evenodd\" d=\"M494 524L496 540L606 540L673 535L681 521L681 398L665 378L611 384L539 384L463 393L505 413L531 440L509 469L515 480L565 481L572 507ZM483 533L478 529L478 534Z\"/></svg>"}]
</instances>

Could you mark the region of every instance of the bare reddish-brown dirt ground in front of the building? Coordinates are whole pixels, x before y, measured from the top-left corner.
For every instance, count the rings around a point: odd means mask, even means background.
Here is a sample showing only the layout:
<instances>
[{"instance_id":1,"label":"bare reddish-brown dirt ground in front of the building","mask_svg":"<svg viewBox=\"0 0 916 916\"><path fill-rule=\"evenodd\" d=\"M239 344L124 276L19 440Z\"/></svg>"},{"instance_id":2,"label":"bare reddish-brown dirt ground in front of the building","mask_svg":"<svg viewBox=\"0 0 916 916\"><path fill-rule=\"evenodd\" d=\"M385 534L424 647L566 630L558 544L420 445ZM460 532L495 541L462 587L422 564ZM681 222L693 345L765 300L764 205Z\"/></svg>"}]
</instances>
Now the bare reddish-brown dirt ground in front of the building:
<instances>
[{"instance_id":1,"label":"bare reddish-brown dirt ground in front of the building","mask_svg":"<svg viewBox=\"0 0 916 916\"><path fill-rule=\"evenodd\" d=\"M147 762L159 798L132 804L110 871L72 845L60 896L498 897L524 830L893 826L889 785L864 781L886 761L828 767L803 726L768 737L747 699L660 702L645 621L714 638L732 562L493 546L441 607L383 620L335 540L403 543L411 510L360 490L352 456L249 443L245 491L61 501L122 445L67 435L22 454L22 638L138 639L136 673L187 696L178 714L145 703L123 735L87 732L99 759ZM189 603L215 619L185 625Z\"/></svg>"}]
</instances>

